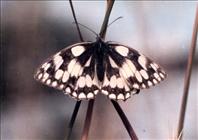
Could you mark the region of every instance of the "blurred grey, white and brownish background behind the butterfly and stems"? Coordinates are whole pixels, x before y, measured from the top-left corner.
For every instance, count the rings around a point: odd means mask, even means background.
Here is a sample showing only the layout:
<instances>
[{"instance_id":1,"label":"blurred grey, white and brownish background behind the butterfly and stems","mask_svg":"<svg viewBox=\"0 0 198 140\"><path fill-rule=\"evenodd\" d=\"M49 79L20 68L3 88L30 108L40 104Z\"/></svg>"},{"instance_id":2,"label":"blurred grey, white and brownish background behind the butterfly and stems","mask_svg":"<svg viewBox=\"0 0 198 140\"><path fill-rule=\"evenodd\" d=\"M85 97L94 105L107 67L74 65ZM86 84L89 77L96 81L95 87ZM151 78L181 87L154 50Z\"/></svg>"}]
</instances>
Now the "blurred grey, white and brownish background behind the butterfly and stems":
<instances>
[{"instance_id":1,"label":"blurred grey, white and brownish background behind the butterfly and stems","mask_svg":"<svg viewBox=\"0 0 198 140\"><path fill-rule=\"evenodd\" d=\"M167 79L119 102L140 139L173 139L197 2L116 1L106 40L121 42L160 64ZM77 19L100 31L105 1L75 1ZM36 68L64 47L79 42L68 1L1 1L1 139L63 139L76 101L33 79ZM95 35L81 28L84 40ZM198 51L189 89L184 139L198 139ZM82 102L72 139L80 139L87 101ZM96 98L89 139L129 139L111 102Z\"/></svg>"}]
</instances>

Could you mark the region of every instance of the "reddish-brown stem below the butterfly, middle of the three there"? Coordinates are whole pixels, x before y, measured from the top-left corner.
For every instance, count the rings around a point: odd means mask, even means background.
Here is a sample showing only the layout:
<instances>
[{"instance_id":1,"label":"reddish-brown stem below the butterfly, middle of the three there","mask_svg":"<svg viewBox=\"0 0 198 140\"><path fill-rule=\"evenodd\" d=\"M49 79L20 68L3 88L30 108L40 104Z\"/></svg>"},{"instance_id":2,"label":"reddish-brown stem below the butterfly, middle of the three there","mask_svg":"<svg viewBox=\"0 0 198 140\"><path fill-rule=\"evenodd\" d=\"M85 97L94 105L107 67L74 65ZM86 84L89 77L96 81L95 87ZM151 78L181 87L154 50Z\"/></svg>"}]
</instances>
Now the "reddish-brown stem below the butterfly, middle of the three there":
<instances>
[{"instance_id":1,"label":"reddish-brown stem below the butterfly, middle of the three there","mask_svg":"<svg viewBox=\"0 0 198 140\"><path fill-rule=\"evenodd\" d=\"M92 118L92 112L93 112L93 106L94 106L94 99L89 100L88 108L87 108L87 114L85 119L85 124L83 128L83 134L81 137L81 140L87 140L89 128L91 124L91 118Z\"/></svg>"}]
</instances>

